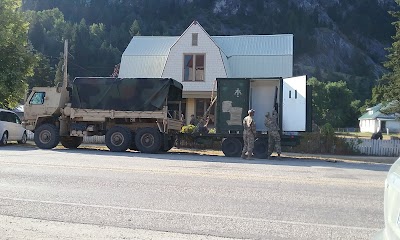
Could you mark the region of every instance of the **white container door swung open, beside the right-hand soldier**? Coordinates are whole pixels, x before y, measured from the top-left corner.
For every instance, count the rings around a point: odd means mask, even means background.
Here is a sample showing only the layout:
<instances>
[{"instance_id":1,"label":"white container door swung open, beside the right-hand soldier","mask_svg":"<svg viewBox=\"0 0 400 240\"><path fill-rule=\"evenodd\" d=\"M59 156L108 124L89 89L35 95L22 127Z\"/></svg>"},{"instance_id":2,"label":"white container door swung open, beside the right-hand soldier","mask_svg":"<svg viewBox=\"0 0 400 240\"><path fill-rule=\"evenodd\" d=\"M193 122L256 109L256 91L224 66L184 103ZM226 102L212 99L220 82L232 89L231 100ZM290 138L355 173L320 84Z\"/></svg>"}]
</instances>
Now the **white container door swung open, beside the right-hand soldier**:
<instances>
[{"instance_id":1,"label":"white container door swung open, beside the right-hand soldier","mask_svg":"<svg viewBox=\"0 0 400 240\"><path fill-rule=\"evenodd\" d=\"M283 79L282 131L306 131L307 76Z\"/></svg>"}]
</instances>

